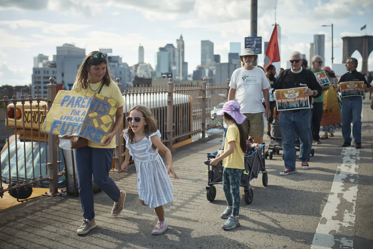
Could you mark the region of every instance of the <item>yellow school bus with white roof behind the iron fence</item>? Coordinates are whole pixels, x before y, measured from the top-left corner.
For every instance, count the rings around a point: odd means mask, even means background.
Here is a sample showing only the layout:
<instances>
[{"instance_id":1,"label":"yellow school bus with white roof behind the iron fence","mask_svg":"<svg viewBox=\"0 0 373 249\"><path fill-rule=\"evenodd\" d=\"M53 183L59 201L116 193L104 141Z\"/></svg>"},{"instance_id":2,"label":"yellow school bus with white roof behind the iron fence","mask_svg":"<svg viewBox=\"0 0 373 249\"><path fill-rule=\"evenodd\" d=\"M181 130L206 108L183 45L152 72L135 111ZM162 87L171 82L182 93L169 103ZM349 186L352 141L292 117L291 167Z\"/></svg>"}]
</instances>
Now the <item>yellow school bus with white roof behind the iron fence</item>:
<instances>
[{"instance_id":1,"label":"yellow school bus with white roof behind the iron fence","mask_svg":"<svg viewBox=\"0 0 373 249\"><path fill-rule=\"evenodd\" d=\"M160 94L127 94L123 96L126 106L123 107L124 119L127 112L134 105L145 105L150 108L159 121L159 130L162 138L166 137L167 121L167 93ZM181 134L173 143L173 148L180 147L192 142L192 97L185 94L174 93L173 103L173 129L175 134ZM9 134L9 153L8 143L1 150L1 181L4 186L17 180L17 165L19 181L27 178L30 181L33 177L36 179L39 175L49 176L49 169L45 165L48 162L48 135L40 133L40 126L43 124L48 114L46 101L37 101L30 103L13 103L7 106L7 118L5 125L12 128L12 134ZM24 122L23 122L24 121ZM123 120L123 128L126 121ZM182 126L180 124L183 124ZM23 127L24 125L24 127ZM189 134L188 134L189 133ZM185 134L185 136L183 135ZM113 138L115 139L115 138ZM125 141L122 137L122 153L125 150ZM17 145L17 146L16 146ZM17 150L16 150L17 147ZM16 156L17 155L17 156ZM18 160L16 160L18 158ZM26 159L26 160L25 160ZM122 163L123 156L120 160ZM10 162L10 163L9 163ZM115 165L113 160L113 166ZM59 147L59 172L65 167L62 149ZM25 176L26 172L26 176ZM9 180L10 175L10 180ZM66 186L65 176L59 177L58 188ZM32 188L32 194L26 197L31 199L49 192L48 181L37 183ZM8 192L4 193L0 199L0 210L10 206L17 205L23 200L12 197Z\"/></svg>"}]
</instances>

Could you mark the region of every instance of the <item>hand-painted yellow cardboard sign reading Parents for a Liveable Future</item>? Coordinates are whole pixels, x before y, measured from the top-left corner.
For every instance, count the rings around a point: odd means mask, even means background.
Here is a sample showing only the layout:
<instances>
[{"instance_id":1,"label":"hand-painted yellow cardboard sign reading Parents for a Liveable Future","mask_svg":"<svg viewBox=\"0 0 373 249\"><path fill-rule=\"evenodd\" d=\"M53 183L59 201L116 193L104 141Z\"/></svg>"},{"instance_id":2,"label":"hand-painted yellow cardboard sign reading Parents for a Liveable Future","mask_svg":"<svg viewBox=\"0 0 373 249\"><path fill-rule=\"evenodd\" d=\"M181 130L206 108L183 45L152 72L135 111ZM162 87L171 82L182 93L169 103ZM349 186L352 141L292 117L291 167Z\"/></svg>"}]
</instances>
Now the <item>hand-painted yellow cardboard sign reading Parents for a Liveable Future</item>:
<instances>
[{"instance_id":1,"label":"hand-painted yellow cardboard sign reading Parents for a Liveable Future","mask_svg":"<svg viewBox=\"0 0 373 249\"><path fill-rule=\"evenodd\" d=\"M80 136L103 144L111 131L118 104L95 92L60 90L40 131Z\"/></svg>"}]
</instances>

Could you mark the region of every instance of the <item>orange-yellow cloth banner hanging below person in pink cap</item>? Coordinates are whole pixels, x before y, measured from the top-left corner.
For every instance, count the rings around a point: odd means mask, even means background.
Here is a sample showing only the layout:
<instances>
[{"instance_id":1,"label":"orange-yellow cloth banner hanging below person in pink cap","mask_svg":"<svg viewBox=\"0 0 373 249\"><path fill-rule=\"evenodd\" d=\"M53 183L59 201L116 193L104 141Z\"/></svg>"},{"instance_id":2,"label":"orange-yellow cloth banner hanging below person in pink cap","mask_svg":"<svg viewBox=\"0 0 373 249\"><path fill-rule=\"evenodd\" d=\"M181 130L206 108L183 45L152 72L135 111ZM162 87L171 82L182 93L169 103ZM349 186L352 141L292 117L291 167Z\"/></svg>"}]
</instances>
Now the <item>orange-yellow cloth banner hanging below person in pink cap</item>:
<instances>
[{"instance_id":1,"label":"orange-yellow cloth banner hanging below person in pink cap","mask_svg":"<svg viewBox=\"0 0 373 249\"><path fill-rule=\"evenodd\" d=\"M320 125L327 126L341 123L341 109L339 109L337 90L334 87L330 87L324 91L323 100L324 111Z\"/></svg>"}]
</instances>

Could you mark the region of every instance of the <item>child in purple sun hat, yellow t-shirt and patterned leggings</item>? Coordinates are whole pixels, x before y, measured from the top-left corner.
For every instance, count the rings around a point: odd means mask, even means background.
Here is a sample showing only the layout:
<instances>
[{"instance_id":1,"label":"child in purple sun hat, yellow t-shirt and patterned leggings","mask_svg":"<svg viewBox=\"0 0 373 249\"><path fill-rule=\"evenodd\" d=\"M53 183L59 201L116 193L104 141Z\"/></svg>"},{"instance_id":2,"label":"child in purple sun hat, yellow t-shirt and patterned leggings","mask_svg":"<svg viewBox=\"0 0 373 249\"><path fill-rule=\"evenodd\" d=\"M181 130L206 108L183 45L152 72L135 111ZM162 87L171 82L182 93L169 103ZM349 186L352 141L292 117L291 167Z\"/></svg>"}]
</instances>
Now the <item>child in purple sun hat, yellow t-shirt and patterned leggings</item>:
<instances>
[{"instance_id":1,"label":"child in purple sun hat, yellow t-shirt and patterned leggings","mask_svg":"<svg viewBox=\"0 0 373 249\"><path fill-rule=\"evenodd\" d=\"M220 151L216 158L211 160L210 165L216 165L223 160L223 191L227 200L227 208L220 215L222 219L228 220L222 225L225 230L239 227L239 181L242 171L245 169L244 151L246 151L247 134L242 127L246 116L239 112L241 106L235 100L229 100L223 105L223 109L216 115L223 115L224 122L228 124L225 135L225 150Z\"/></svg>"}]
</instances>

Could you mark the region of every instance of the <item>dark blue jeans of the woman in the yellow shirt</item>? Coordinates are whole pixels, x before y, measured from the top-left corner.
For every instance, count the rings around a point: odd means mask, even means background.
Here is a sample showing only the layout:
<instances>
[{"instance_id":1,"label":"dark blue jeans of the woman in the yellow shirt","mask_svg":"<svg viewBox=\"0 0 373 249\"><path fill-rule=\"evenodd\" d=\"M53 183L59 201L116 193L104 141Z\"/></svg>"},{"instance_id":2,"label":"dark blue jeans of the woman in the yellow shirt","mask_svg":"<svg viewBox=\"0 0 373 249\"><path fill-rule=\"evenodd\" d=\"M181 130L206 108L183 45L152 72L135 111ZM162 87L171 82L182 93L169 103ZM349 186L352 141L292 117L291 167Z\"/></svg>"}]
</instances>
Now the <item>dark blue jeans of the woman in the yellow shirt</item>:
<instances>
[{"instance_id":1,"label":"dark blue jeans of the woman in the yellow shirt","mask_svg":"<svg viewBox=\"0 0 373 249\"><path fill-rule=\"evenodd\" d=\"M79 198L84 219L94 218L92 175L94 182L115 202L120 190L109 176L114 149L82 147L74 149Z\"/></svg>"}]
</instances>

